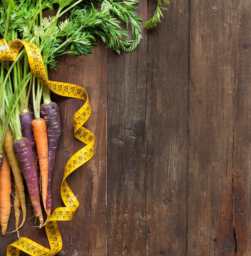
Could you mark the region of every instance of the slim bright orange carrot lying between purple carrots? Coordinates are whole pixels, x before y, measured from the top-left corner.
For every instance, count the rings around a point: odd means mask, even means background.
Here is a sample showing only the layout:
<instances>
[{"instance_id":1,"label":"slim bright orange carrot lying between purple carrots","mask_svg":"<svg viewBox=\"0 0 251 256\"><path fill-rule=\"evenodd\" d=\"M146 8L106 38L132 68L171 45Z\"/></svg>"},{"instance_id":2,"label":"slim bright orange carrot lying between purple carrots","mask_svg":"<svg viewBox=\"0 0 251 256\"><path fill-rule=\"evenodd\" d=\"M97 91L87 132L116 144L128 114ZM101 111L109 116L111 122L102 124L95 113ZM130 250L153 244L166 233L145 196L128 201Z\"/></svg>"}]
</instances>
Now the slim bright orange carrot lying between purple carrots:
<instances>
[{"instance_id":1,"label":"slim bright orange carrot lying between purple carrots","mask_svg":"<svg viewBox=\"0 0 251 256\"><path fill-rule=\"evenodd\" d=\"M43 118L33 119L31 122L33 135L38 151L38 161L42 184L42 202L46 211L47 188L48 188L48 140L46 123ZM47 213L47 212L46 212ZM47 219L48 214L47 214Z\"/></svg>"}]
</instances>

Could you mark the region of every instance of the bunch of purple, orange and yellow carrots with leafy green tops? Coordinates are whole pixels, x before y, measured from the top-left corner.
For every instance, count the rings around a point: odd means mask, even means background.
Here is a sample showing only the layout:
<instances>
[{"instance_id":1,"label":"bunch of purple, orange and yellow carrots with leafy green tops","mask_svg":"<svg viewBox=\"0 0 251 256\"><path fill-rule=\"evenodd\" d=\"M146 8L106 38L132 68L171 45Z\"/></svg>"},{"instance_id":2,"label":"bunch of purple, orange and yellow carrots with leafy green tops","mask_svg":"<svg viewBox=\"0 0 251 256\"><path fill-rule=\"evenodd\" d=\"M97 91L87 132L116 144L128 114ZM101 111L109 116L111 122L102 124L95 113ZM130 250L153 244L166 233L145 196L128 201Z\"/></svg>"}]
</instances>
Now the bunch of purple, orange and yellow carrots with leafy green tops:
<instances>
[{"instance_id":1,"label":"bunch of purple, orange and yellow carrots with leafy green tops","mask_svg":"<svg viewBox=\"0 0 251 256\"><path fill-rule=\"evenodd\" d=\"M121 50L130 52L141 39L142 19L134 13L138 1L1 0L0 39L35 44L46 72L48 67L56 68L57 56L90 54L97 45L97 36L118 54ZM162 9L166 8L158 0L147 28L160 22ZM50 13L47 17L43 16L45 10ZM131 36L122 29L122 22L124 27L130 25ZM11 211L13 175L15 231L19 237L18 230L27 217L24 182L40 228L51 215L50 184L60 137L60 115L49 88L32 74L25 48L16 60L0 61L0 225L4 235Z\"/></svg>"}]
</instances>

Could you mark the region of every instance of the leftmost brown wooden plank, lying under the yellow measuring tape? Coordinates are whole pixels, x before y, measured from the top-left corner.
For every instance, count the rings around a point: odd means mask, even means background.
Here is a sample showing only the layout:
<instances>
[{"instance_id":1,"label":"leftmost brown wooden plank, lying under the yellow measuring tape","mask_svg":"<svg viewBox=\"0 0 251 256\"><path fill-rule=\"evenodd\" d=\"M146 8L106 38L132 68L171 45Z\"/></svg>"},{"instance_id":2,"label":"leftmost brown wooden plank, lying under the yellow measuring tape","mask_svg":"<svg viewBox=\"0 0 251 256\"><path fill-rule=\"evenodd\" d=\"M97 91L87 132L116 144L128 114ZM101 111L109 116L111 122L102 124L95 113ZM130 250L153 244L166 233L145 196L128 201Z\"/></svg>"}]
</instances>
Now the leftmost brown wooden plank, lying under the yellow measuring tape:
<instances>
[{"instance_id":1,"label":"leftmost brown wooden plank, lying under the yellow measuring tape","mask_svg":"<svg viewBox=\"0 0 251 256\"><path fill-rule=\"evenodd\" d=\"M89 56L65 56L59 59L57 71L49 77L55 81L74 83L82 86L89 95L92 113L84 125L96 136L93 158L67 177L73 193L78 197L80 207L73 220L58 222L62 235L63 249L59 256L106 255L106 156L107 156L107 49L102 43L93 49ZM77 150L84 144L73 135L73 114L83 105L83 101L52 95L58 103L62 122L62 132L52 175L52 209L64 206L60 196L60 185L64 166ZM27 197L27 203L29 199ZM33 211L28 206L27 222L20 235L34 239L49 248L44 228L33 228ZM9 231L13 230L13 213ZM97 225L98 223L98 225ZM0 237L0 255L6 254L7 245L17 239L16 234ZM27 255L20 253L21 255Z\"/></svg>"}]
</instances>

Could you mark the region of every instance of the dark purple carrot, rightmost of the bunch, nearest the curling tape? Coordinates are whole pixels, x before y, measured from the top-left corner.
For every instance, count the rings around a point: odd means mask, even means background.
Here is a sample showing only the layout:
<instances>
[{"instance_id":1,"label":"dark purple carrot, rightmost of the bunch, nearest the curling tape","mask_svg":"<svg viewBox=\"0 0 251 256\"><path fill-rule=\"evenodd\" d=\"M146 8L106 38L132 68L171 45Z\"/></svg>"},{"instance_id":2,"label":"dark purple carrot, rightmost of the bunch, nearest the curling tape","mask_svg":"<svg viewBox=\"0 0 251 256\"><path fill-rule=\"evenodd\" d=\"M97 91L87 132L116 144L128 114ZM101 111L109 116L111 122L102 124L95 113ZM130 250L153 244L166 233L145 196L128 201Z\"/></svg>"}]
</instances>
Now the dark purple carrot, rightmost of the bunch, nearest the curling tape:
<instances>
[{"instance_id":1,"label":"dark purple carrot, rightmost of the bunch, nearest the curling tape","mask_svg":"<svg viewBox=\"0 0 251 256\"><path fill-rule=\"evenodd\" d=\"M48 137L48 195L46 202L47 213L51 212L51 173L55 164L55 156L58 147L58 139L61 132L59 108L55 102L41 104L40 115L45 120L47 125ZM49 217L49 216L47 216Z\"/></svg>"}]
</instances>

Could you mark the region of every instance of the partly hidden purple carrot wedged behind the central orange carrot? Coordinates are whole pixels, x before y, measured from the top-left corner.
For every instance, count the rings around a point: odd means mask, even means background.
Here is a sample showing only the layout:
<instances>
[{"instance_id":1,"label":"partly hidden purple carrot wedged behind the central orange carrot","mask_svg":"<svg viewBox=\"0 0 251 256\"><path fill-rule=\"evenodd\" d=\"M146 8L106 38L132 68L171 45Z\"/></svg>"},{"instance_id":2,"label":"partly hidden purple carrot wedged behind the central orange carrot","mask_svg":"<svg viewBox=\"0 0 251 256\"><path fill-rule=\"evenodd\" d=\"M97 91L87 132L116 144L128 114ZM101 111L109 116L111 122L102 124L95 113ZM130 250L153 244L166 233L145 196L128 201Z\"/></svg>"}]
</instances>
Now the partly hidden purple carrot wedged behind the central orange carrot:
<instances>
[{"instance_id":1,"label":"partly hidden purple carrot wedged behind the central orange carrot","mask_svg":"<svg viewBox=\"0 0 251 256\"><path fill-rule=\"evenodd\" d=\"M20 114L22 135L23 135L23 137L29 139L29 141L31 143L31 148L32 148L32 152L33 152L33 155L35 158L37 173L38 173L38 177L39 177L38 152L37 152L36 141L34 139L32 126L31 126L31 122L33 119L35 119L33 112L24 112L24 113Z\"/></svg>"}]
</instances>

